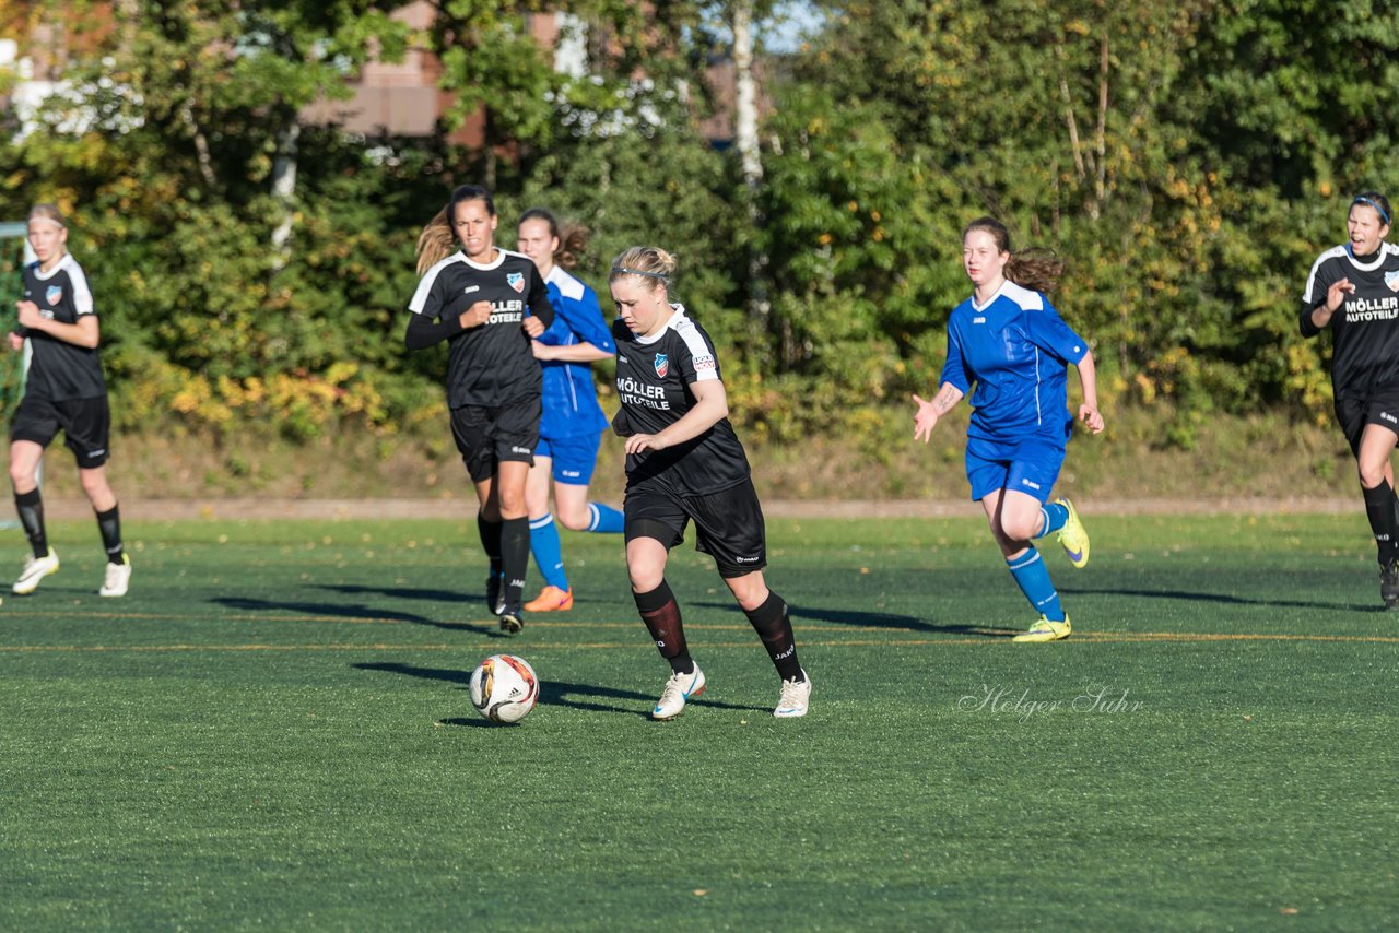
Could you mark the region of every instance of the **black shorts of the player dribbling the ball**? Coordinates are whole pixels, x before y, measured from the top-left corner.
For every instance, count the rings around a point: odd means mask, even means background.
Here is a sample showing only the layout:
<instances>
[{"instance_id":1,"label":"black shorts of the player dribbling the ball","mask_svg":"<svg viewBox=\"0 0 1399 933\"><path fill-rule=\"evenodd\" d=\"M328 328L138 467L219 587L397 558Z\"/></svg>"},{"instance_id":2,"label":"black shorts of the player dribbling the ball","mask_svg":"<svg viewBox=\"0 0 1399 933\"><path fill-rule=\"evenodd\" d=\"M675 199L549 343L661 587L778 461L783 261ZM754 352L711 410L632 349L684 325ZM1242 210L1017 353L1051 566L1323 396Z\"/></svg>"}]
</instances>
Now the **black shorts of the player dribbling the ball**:
<instances>
[{"instance_id":1,"label":"black shorts of the player dribbling the ball","mask_svg":"<svg viewBox=\"0 0 1399 933\"><path fill-rule=\"evenodd\" d=\"M719 576L732 579L768 565L762 506L753 480L709 495L628 490L623 513L628 541L651 537L667 551L686 540L686 525L694 522L695 550L713 558Z\"/></svg>"}]
</instances>

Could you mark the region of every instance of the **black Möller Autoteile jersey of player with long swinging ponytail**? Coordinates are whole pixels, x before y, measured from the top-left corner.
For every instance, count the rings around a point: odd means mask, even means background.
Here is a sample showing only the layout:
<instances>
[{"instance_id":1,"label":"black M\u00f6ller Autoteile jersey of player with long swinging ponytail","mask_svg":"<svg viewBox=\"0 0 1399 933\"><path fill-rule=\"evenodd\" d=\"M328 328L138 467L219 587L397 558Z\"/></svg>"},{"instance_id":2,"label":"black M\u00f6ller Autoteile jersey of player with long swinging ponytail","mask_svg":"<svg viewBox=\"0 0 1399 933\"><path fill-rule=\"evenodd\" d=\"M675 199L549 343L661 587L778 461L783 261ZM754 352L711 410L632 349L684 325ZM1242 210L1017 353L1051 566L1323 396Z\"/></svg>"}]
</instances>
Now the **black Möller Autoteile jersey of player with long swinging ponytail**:
<instances>
[{"instance_id":1,"label":"black M\u00f6ller Autoteile jersey of player with long swinging ponytail","mask_svg":"<svg viewBox=\"0 0 1399 933\"><path fill-rule=\"evenodd\" d=\"M497 248L495 262L481 266L456 252L422 276L409 309L429 320L455 320L478 301L491 302L490 320L480 327L452 330L446 337L448 407L498 407L539 394L540 366L522 322L527 308L548 327L554 323L554 308L529 256Z\"/></svg>"}]
</instances>

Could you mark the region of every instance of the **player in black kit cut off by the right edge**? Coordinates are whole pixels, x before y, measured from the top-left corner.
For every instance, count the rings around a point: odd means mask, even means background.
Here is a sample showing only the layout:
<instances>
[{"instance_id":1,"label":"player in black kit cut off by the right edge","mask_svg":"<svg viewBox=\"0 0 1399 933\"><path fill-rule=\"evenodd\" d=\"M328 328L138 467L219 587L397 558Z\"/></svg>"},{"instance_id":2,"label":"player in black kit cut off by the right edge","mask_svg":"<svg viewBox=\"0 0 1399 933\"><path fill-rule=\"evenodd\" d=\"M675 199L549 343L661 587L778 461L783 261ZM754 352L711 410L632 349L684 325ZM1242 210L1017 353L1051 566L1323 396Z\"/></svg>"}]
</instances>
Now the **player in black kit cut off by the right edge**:
<instances>
[{"instance_id":1,"label":"player in black kit cut off by the right edge","mask_svg":"<svg viewBox=\"0 0 1399 933\"><path fill-rule=\"evenodd\" d=\"M1399 608L1399 504L1389 463L1399 443L1399 248L1385 242L1392 221L1384 196L1356 196L1346 220L1350 241L1312 264L1300 319L1304 337L1332 332L1336 420L1360 469L1385 608Z\"/></svg>"}]
</instances>

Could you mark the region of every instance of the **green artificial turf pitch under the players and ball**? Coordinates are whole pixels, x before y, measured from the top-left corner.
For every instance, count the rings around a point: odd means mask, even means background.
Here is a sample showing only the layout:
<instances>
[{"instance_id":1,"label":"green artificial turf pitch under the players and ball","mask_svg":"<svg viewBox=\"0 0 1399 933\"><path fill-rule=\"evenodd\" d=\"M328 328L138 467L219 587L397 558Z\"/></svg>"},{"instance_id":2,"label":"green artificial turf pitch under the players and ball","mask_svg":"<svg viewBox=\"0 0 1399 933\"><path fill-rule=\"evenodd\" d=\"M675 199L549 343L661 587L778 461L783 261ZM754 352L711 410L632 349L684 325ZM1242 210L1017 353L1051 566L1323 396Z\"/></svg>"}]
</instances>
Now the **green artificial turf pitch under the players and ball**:
<instances>
[{"instance_id":1,"label":"green artificial turf pitch under the players and ball","mask_svg":"<svg viewBox=\"0 0 1399 933\"><path fill-rule=\"evenodd\" d=\"M772 522L811 713L712 565L667 673L617 537L498 635L474 520L91 522L0 607L0 929L1393 929L1399 614L1347 516L1097 518L1028 608L974 520ZM20 532L0 562L18 569ZM537 576L532 579L532 587ZM515 727L483 656L543 681Z\"/></svg>"}]
</instances>

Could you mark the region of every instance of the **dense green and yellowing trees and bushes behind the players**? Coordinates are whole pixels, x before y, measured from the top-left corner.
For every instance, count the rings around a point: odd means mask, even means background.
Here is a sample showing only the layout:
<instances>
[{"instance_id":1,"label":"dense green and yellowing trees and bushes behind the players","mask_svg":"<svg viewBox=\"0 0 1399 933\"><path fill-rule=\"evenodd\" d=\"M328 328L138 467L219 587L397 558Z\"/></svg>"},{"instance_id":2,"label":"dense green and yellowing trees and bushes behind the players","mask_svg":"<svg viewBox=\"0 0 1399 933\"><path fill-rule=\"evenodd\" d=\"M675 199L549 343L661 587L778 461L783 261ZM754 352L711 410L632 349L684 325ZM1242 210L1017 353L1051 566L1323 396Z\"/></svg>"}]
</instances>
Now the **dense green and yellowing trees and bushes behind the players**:
<instances>
[{"instance_id":1,"label":"dense green and yellowing trees and bushes behind the players","mask_svg":"<svg viewBox=\"0 0 1399 933\"><path fill-rule=\"evenodd\" d=\"M39 127L4 117L0 218L70 211L119 429L441 434L445 354L403 348L413 246L487 180L501 245L532 206L592 228L578 273L604 297L620 249L674 252L736 420L778 443L932 389L960 231L995 214L1069 260L1053 301L1105 406L1189 448L1214 413L1328 417L1297 298L1350 196L1399 192L1389 3L814 0L799 48L758 31L755 165L698 123L765 3L551 3L589 24L583 78L523 28L546 4L439 0L421 32L396 6L0 0L4 35L60 22L71 53ZM441 59L445 130L484 109L484 148L298 119L413 48Z\"/></svg>"}]
</instances>

